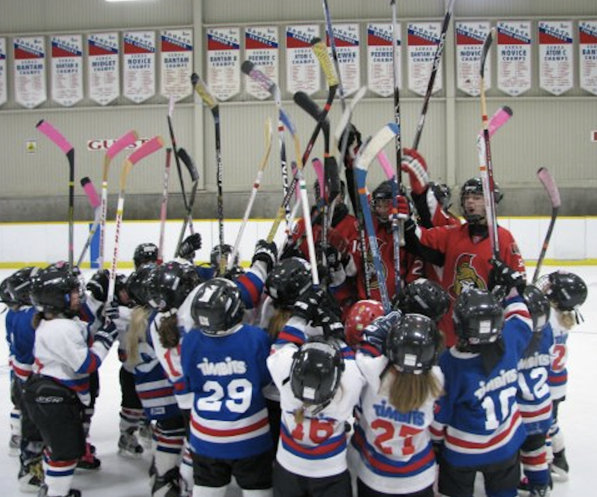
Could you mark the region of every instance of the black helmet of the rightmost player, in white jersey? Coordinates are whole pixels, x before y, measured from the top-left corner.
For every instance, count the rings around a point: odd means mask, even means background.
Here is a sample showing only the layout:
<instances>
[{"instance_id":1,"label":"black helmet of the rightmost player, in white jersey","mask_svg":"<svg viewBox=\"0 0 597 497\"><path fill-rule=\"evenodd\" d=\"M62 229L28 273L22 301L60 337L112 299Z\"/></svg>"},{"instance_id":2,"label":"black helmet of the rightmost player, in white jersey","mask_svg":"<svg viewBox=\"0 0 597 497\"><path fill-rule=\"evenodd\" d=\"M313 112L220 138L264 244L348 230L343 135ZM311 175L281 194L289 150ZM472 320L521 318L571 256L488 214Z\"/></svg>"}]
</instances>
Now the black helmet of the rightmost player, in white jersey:
<instances>
[{"instance_id":1,"label":"black helmet of the rightmost player, in white jersey","mask_svg":"<svg viewBox=\"0 0 597 497\"><path fill-rule=\"evenodd\" d=\"M587 285L578 274L565 270L541 276L537 287L558 311L573 311L587 300Z\"/></svg>"}]
</instances>

